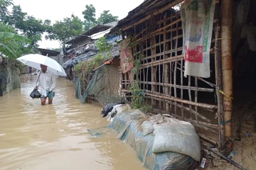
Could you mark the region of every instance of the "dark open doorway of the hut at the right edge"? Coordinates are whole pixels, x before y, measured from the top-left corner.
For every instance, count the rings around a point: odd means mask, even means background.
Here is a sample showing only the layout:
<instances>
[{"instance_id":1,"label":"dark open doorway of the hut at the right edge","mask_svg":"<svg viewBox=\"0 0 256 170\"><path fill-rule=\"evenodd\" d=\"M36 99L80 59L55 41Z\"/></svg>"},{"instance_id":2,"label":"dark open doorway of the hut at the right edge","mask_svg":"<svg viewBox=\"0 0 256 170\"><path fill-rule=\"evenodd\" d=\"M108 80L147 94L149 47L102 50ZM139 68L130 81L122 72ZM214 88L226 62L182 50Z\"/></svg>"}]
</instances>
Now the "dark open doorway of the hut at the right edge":
<instances>
[{"instance_id":1,"label":"dark open doorway of the hut at the right edge","mask_svg":"<svg viewBox=\"0 0 256 170\"><path fill-rule=\"evenodd\" d=\"M242 29L252 24L256 17L256 1L247 1L247 3L244 9L247 8L248 10L243 12L241 1L234 2L233 120L235 123L233 132L235 140L242 140L241 138L245 137L248 132L251 133L256 130L256 52L252 52L252 47L250 47L252 44L250 45L250 40L247 41L247 37L241 45L238 45L240 38L243 38L241 36Z\"/></svg>"}]
</instances>

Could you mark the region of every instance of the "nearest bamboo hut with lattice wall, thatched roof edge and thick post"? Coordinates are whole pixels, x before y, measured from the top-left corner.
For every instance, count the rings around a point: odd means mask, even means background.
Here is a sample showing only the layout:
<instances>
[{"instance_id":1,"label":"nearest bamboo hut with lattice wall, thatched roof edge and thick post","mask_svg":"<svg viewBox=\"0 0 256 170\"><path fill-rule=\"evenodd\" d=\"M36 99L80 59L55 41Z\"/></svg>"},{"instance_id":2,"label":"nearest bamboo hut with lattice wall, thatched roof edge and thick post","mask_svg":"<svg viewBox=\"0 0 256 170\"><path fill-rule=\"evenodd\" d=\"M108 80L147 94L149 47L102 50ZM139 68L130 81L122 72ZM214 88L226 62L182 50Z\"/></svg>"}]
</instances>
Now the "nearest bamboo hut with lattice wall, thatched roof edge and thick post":
<instances>
[{"instance_id":1,"label":"nearest bamboo hut with lattice wall, thatched roof edge and thick post","mask_svg":"<svg viewBox=\"0 0 256 170\"><path fill-rule=\"evenodd\" d=\"M115 31L135 38L134 60L141 61L137 79L152 112L192 123L202 140L228 152L233 138L233 1L215 1L208 79L183 77L181 13L174 9L181 2L144 1L119 21ZM126 98L131 97L127 88L134 80L131 75L129 71L121 77L121 94Z\"/></svg>"}]
</instances>

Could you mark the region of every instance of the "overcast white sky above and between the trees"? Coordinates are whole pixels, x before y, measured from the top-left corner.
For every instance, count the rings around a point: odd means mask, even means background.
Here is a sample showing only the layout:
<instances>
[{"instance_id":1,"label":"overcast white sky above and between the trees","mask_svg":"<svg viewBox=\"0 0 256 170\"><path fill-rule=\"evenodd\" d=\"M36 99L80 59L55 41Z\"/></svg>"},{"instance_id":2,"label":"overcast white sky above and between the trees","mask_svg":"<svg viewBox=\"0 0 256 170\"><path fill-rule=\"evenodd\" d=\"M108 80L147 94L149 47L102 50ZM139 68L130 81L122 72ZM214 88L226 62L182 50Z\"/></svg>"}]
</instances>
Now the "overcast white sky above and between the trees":
<instances>
[{"instance_id":1,"label":"overcast white sky above and between the trees","mask_svg":"<svg viewBox=\"0 0 256 170\"><path fill-rule=\"evenodd\" d=\"M136 8L144 0L72 0L72 1L60 1L60 0L13 0L15 5L21 5L23 12L28 15L40 18L42 20L49 19L52 21L59 21L65 17L70 17L72 13L78 16L83 21L82 11L85 10L85 5L92 4L96 9L96 18L100 16L100 13L104 10L110 10L110 13L114 16L119 16L119 20L126 17L129 11ZM58 41L50 41L42 38L41 42L38 42L41 48L58 48L60 47Z\"/></svg>"}]
</instances>

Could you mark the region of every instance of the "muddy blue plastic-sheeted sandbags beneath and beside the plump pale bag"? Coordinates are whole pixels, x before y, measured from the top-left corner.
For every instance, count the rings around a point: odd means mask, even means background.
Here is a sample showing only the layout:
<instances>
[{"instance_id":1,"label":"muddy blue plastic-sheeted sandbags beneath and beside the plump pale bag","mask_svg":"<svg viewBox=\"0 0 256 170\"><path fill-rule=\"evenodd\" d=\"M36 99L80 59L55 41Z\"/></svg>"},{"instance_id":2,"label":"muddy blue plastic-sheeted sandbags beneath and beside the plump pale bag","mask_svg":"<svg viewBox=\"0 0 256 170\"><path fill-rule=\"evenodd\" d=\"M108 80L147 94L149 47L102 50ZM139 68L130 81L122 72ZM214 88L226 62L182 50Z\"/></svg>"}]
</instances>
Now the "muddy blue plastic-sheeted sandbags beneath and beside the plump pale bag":
<instances>
[{"instance_id":1,"label":"muddy blue plastic-sheeted sandbags beneath and beside the plump pale bag","mask_svg":"<svg viewBox=\"0 0 256 170\"><path fill-rule=\"evenodd\" d=\"M152 152L154 135L151 133L144 136L140 127L147 119L141 111L131 109L117 114L107 128L115 130L118 138L134 149L138 159L147 169L194 170L198 168L198 162L185 154L176 152L154 154Z\"/></svg>"}]
</instances>

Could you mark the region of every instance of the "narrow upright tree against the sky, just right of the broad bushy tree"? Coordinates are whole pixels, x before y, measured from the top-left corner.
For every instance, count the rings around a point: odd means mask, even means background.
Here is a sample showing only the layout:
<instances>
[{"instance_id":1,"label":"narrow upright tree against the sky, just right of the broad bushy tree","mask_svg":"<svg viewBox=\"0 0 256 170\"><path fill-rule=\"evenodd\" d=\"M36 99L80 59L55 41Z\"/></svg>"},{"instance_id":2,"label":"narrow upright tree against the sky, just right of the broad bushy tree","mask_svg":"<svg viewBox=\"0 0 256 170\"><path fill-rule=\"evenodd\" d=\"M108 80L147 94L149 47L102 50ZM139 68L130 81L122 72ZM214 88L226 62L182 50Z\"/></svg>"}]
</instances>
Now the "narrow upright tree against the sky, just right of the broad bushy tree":
<instances>
[{"instance_id":1,"label":"narrow upright tree against the sky, just right of the broad bushy tree","mask_svg":"<svg viewBox=\"0 0 256 170\"><path fill-rule=\"evenodd\" d=\"M90 6L86 5L85 6L85 11L82 11L82 15L84 16L84 30L90 30L90 28L92 28L93 26L95 26L97 24L96 21L96 15L95 15L95 7L90 4Z\"/></svg>"}]
</instances>

